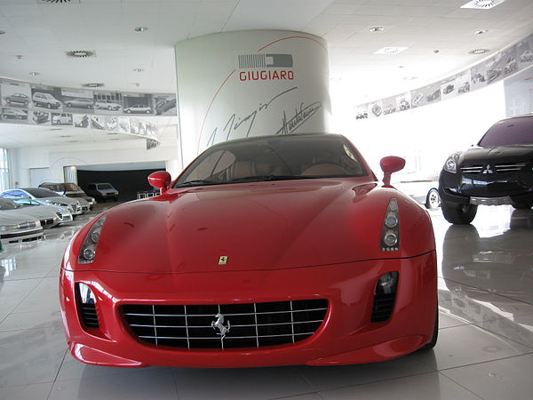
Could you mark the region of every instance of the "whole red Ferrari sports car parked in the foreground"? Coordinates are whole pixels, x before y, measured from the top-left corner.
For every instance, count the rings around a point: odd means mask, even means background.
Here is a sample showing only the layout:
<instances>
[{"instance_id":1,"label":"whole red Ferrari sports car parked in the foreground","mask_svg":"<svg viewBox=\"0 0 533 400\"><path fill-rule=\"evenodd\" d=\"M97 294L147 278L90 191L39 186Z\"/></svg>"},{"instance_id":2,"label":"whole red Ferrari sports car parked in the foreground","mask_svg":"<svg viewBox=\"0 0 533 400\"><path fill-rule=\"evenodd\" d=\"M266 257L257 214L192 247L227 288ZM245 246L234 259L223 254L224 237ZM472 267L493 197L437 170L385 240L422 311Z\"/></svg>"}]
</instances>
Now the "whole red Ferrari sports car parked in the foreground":
<instances>
[{"instance_id":1,"label":"whole red Ferrari sports car parked in the foreground","mask_svg":"<svg viewBox=\"0 0 533 400\"><path fill-rule=\"evenodd\" d=\"M99 214L61 266L68 347L87 364L358 364L437 339L434 233L342 136L208 148L161 195Z\"/></svg>"}]
</instances>

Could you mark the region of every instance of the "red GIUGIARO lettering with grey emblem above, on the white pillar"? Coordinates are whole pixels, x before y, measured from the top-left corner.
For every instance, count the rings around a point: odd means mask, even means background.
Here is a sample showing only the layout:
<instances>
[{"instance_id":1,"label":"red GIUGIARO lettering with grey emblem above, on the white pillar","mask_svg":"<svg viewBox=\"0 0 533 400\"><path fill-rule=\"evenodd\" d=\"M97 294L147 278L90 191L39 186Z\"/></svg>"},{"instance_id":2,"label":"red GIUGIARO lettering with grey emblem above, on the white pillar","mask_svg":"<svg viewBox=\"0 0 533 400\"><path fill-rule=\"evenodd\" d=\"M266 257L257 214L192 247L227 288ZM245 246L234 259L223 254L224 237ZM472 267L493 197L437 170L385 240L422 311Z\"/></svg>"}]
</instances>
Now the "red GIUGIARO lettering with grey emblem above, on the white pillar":
<instances>
[{"instance_id":1,"label":"red GIUGIARO lettering with grey emblem above, on the white pillar","mask_svg":"<svg viewBox=\"0 0 533 400\"><path fill-rule=\"evenodd\" d=\"M239 80L292 81L292 54L242 54L239 56Z\"/></svg>"}]
</instances>

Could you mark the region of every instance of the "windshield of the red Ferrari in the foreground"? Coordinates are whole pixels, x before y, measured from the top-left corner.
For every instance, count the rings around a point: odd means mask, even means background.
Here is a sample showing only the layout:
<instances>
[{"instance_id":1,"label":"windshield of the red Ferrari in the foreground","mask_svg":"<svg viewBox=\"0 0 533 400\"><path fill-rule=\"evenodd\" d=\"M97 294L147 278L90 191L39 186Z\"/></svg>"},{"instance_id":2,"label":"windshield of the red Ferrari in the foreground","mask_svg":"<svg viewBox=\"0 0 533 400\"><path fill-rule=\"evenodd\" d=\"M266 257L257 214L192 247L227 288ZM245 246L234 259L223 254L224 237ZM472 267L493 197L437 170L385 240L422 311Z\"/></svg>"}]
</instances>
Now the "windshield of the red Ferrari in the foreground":
<instances>
[{"instance_id":1,"label":"windshield of the red Ferrari in the foreground","mask_svg":"<svg viewBox=\"0 0 533 400\"><path fill-rule=\"evenodd\" d=\"M356 151L343 137L290 135L236 140L208 148L174 187L366 175Z\"/></svg>"}]
</instances>

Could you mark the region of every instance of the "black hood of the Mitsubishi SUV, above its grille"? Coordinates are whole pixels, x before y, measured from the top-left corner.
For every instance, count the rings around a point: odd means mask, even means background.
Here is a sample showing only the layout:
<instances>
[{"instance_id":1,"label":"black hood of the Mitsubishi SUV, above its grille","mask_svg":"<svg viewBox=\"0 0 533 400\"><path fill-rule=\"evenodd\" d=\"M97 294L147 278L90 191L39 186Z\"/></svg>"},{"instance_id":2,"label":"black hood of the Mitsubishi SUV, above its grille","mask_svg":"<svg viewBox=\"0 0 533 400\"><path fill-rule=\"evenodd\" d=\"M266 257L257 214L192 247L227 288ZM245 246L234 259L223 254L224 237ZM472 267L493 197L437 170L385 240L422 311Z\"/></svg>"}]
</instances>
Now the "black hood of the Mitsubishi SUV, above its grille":
<instances>
[{"instance_id":1,"label":"black hood of the Mitsubishi SUV, above its grille","mask_svg":"<svg viewBox=\"0 0 533 400\"><path fill-rule=\"evenodd\" d=\"M491 148L469 148L459 156L458 164L505 163L533 159L533 145L508 145Z\"/></svg>"}]
</instances>

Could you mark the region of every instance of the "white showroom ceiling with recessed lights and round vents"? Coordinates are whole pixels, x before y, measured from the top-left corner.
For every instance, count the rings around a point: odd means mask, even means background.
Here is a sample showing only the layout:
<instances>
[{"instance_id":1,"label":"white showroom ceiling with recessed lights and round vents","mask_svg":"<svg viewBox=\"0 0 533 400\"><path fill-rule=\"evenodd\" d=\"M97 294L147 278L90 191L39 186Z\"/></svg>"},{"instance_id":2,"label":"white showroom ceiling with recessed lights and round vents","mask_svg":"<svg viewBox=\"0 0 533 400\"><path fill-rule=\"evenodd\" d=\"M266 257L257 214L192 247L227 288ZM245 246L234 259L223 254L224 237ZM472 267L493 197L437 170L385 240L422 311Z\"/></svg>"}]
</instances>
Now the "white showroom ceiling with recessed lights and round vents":
<instances>
[{"instance_id":1,"label":"white showroom ceiling with recessed lights and round vents","mask_svg":"<svg viewBox=\"0 0 533 400\"><path fill-rule=\"evenodd\" d=\"M342 87L359 104L432 83L533 32L532 0L506 0L489 10L460 8L466 2L0 0L0 29L6 32L0 35L0 76L61 86L97 82L106 90L175 92L175 43L229 30L291 29L328 41L332 86ZM148 30L138 33L136 27ZM370 32L372 27L384 30ZM479 29L488 32L474 35ZM408 49L396 55L374 53L385 46ZM491 52L468 54L476 48ZM65 52L71 50L95 51L96 57L69 59ZM32 71L40 75L28 76ZM407 81L406 76L418 78Z\"/></svg>"}]
</instances>

